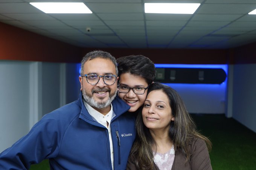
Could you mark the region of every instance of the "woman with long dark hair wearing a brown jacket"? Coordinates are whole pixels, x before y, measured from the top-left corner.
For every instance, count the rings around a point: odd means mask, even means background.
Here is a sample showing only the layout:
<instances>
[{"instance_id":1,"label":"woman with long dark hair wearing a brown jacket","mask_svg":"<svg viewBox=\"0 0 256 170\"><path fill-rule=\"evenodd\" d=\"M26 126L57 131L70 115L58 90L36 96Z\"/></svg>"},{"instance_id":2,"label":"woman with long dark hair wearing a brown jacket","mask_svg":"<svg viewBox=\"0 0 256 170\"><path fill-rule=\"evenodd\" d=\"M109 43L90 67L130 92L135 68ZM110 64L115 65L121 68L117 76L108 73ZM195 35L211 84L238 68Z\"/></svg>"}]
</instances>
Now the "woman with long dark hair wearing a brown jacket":
<instances>
[{"instance_id":1,"label":"woman with long dark hair wearing a brown jacket","mask_svg":"<svg viewBox=\"0 0 256 170\"><path fill-rule=\"evenodd\" d=\"M207 150L211 142L196 131L171 87L151 84L136 129L127 170L212 170Z\"/></svg>"}]
</instances>

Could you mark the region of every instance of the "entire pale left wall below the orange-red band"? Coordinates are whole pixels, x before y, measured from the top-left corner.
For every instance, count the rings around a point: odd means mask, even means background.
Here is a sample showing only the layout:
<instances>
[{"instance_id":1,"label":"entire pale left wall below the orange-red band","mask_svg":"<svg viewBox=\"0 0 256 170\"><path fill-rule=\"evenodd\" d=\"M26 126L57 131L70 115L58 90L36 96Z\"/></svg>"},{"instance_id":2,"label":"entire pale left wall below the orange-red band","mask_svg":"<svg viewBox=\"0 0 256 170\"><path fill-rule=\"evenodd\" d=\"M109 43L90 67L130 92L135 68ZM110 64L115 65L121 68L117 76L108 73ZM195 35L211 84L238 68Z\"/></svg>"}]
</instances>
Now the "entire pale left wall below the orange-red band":
<instances>
[{"instance_id":1,"label":"entire pale left wall below the orange-red band","mask_svg":"<svg viewBox=\"0 0 256 170\"><path fill-rule=\"evenodd\" d=\"M0 152L44 114L78 99L78 71L75 63L0 60Z\"/></svg>"}]
</instances>

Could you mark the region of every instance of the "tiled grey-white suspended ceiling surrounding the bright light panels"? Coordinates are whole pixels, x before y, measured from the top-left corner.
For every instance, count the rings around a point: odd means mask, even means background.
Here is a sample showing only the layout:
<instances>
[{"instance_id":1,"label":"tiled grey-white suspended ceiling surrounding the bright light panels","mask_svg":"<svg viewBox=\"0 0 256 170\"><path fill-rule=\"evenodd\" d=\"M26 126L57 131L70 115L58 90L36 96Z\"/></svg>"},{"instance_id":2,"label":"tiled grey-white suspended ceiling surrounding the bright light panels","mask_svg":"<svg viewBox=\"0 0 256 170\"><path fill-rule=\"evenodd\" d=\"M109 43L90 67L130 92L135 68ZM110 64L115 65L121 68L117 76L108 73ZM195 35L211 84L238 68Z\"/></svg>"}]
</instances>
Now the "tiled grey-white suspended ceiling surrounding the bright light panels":
<instances>
[{"instance_id":1,"label":"tiled grey-white suspended ceiling surrounding the bright light panels","mask_svg":"<svg viewBox=\"0 0 256 170\"><path fill-rule=\"evenodd\" d=\"M45 14L29 2L84 2L93 14ZM153 2L201 5L145 14ZM256 0L0 0L0 22L78 47L221 49L256 41L254 9Z\"/></svg>"}]
</instances>

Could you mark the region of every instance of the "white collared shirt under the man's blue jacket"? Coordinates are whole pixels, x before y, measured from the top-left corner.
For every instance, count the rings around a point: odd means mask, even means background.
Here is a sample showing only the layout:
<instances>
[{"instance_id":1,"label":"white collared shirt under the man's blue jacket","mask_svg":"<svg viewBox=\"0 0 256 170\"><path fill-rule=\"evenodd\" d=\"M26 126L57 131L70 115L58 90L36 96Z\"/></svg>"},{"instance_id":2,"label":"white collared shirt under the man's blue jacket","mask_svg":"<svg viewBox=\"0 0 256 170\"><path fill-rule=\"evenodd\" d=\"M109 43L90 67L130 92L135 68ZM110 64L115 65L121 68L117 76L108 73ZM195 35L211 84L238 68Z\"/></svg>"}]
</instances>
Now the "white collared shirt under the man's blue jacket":
<instances>
[{"instance_id":1,"label":"white collared shirt under the man's blue jacket","mask_svg":"<svg viewBox=\"0 0 256 170\"><path fill-rule=\"evenodd\" d=\"M97 122L101 123L103 126L105 126L108 129L108 136L109 136L109 143L110 143L110 155L111 155L111 164L112 164L112 169L114 169L114 151L113 151L113 142L112 142L112 137L111 137L111 129L110 129L110 122L113 116L113 107L111 104L111 109L110 111L106 114L103 115L94 108L92 108L90 105L88 105L87 102L84 102L84 105L86 109L88 110L88 113L93 117L94 120ZM108 126L107 126L108 122Z\"/></svg>"}]
</instances>

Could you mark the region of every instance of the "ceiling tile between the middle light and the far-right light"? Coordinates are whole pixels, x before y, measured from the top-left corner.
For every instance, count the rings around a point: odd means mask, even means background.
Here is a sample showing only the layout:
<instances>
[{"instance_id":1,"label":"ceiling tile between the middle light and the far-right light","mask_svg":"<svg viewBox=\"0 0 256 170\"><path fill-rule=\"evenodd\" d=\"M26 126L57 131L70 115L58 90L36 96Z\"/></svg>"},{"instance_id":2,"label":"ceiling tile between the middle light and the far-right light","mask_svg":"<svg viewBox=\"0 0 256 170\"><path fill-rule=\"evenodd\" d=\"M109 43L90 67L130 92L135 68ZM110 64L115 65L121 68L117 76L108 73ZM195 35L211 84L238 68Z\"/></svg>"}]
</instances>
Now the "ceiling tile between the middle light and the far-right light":
<instances>
[{"instance_id":1,"label":"ceiling tile between the middle light and the far-right light","mask_svg":"<svg viewBox=\"0 0 256 170\"><path fill-rule=\"evenodd\" d=\"M255 8L251 4L204 4L197 14L247 14Z\"/></svg>"}]
</instances>

